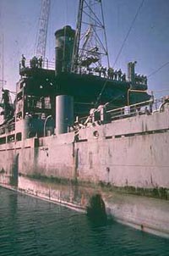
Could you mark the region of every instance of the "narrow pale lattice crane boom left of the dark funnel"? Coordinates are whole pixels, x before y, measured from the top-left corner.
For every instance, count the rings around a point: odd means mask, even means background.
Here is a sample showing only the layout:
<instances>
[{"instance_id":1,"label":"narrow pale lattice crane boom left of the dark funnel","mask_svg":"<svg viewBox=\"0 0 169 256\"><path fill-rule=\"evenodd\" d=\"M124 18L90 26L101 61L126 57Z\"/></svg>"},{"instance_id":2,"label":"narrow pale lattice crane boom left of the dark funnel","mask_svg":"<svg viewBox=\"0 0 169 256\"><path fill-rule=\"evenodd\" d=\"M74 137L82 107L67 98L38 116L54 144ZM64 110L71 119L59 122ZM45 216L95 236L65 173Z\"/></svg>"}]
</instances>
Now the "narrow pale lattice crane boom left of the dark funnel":
<instances>
[{"instance_id":1,"label":"narrow pale lattice crane boom left of the dark funnel","mask_svg":"<svg viewBox=\"0 0 169 256\"><path fill-rule=\"evenodd\" d=\"M39 30L37 33L37 41L35 46L35 56L45 59L46 54L46 37L47 25L49 20L51 0L41 0L41 16L39 20Z\"/></svg>"}]
</instances>

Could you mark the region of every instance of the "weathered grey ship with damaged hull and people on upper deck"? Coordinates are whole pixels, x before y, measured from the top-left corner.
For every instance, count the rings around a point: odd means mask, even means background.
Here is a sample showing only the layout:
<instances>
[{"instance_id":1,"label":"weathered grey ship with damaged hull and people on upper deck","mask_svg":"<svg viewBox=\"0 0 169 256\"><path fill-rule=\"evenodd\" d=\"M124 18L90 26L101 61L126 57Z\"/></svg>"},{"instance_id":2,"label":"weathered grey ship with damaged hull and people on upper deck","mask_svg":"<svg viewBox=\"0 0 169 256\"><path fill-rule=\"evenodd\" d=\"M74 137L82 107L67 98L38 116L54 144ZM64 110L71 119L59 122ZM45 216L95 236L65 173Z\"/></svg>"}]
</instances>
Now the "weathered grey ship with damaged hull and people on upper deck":
<instances>
[{"instance_id":1,"label":"weathered grey ship with damaged hull and people on upper deck","mask_svg":"<svg viewBox=\"0 0 169 256\"><path fill-rule=\"evenodd\" d=\"M0 186L169 237L169 97L135 61L126 77L80 55L79 20L56 31L54 69L22 59L14 103L3 89Z\"/></svg>"}]
</instances>

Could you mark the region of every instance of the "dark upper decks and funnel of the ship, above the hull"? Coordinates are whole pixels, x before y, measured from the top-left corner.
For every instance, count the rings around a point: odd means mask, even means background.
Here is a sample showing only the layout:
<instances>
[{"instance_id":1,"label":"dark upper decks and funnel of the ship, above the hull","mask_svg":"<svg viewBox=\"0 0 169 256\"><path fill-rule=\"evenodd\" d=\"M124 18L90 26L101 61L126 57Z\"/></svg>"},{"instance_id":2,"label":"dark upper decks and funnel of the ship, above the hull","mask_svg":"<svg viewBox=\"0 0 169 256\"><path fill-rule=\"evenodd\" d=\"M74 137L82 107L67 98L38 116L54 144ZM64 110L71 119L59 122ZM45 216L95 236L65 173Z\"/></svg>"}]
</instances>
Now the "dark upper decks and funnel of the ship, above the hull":
<instances>
[{"instance_id":1,"label":"dark upper decks and funnel of the ship, above the hull","mask_svg":"<svg viewBox=\"0 0 169 256\"><path fill-rule=\"evenodd\" d=\"M85 68L83 72L82 70L72 72L74 35L75 31L68 25L55 33L55 69L51 63L42 67L37 58L30 59L24 65L20 63L20 80L17 83L13 109L15 114L10 116L13 119L10 123L13 122L13 127L16 127L16 129L13 128L13 136L10 134L12 140L16 139L15 136L22 140L32 136L44 136L44 123L49 116L50 119L46 125L50 128L47 129L50 135L54 134L57 127L56 116L60 116L56 109L57 96L71 97L74 113L71 114L72 117L67 126L73 126L76 117L82 118L89 115L90 109L97 108L99 105L106 104L108 109L116 109L150 99L146 93L145 76L139 77L138 80L135 75L135 63L128 64L128 79L123 76L122 71L115 73L111 68L107 70L102 70L102 67L97 67L97 70ZM3 92L5 121L1 126L2 130L6 127L5 136L8 137L6 123L8 100L5 100L5 93L7 94L7 91ZM67 131L68 127L64 132ZM4 136L2 141L4 142Z\"/></svg>"}]
</instances>

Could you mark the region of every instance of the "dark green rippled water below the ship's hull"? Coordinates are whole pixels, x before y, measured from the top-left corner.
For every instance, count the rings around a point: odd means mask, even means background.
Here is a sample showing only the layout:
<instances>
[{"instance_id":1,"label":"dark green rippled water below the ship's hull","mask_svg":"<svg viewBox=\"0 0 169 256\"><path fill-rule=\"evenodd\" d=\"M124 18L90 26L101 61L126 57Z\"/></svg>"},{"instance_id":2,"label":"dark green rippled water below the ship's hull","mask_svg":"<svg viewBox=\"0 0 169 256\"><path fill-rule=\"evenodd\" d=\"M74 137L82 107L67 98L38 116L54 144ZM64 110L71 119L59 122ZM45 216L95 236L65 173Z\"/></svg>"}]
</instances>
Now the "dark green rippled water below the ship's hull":
<instances>
[{"instance_id":1,"label":"dark green rippled water below the ship's hull","mask_svg":"<svg viewBox=\"0 0 169 256\"><path fill-rule=\"evenodd\" d=\"M0 188L0 256L169 255L169 240Z\"/></svg>"}]
</instances>

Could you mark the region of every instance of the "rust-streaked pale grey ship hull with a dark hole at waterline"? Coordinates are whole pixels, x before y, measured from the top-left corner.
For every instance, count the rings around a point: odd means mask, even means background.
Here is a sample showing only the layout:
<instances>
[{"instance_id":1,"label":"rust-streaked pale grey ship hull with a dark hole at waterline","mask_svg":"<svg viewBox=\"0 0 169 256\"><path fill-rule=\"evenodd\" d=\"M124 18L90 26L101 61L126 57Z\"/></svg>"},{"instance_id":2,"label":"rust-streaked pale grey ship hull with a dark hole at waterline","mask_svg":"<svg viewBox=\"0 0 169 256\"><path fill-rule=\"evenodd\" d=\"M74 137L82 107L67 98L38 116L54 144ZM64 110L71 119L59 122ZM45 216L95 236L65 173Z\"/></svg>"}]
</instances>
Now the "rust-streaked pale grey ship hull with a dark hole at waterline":
<instances>
[{"instance_id":1,"label":"rust-streaked pale grey ship hull with a dark hole at waterline","mask_svg":"<svg viewBox=\"0 0 169 256\"><path fill-rule=\"evenodd\" d=\"M168 237L168 145L166 108L81 129L78 141L69 132L0 145L0 182L81 210L99 193L116 220Z\"/></svg>"}]
</instances>

